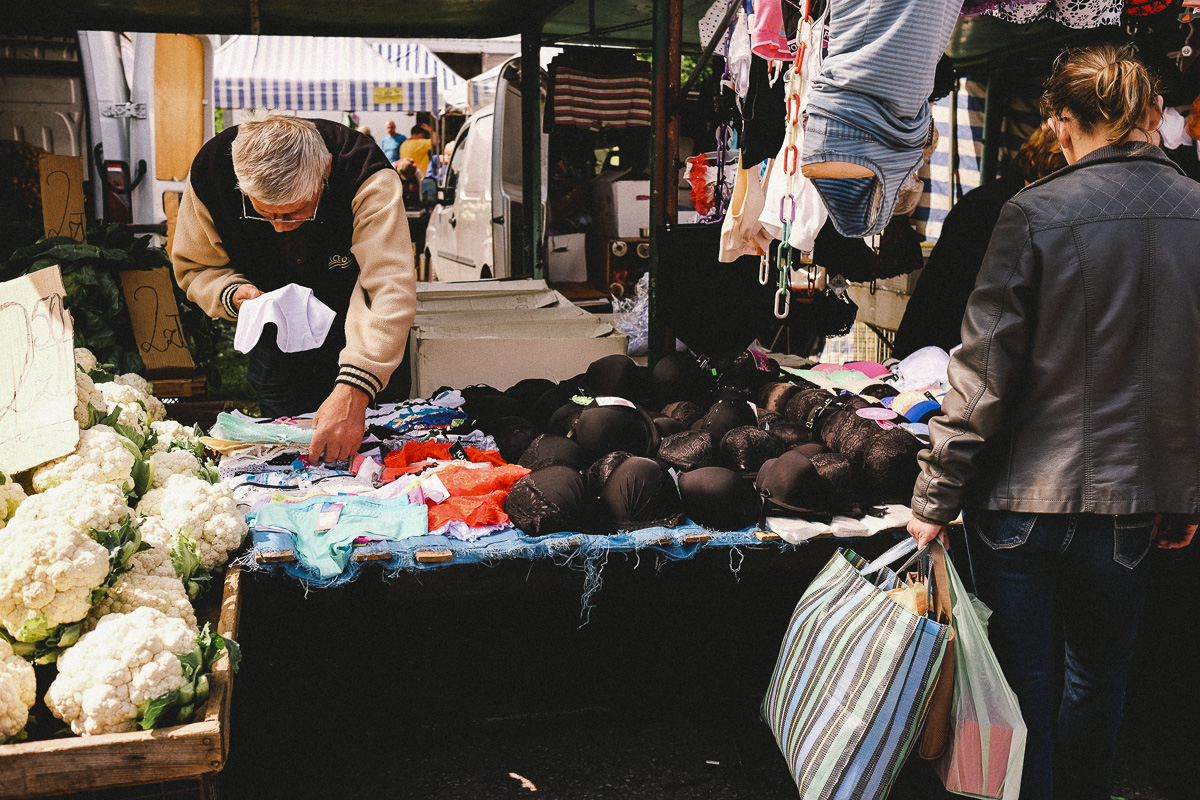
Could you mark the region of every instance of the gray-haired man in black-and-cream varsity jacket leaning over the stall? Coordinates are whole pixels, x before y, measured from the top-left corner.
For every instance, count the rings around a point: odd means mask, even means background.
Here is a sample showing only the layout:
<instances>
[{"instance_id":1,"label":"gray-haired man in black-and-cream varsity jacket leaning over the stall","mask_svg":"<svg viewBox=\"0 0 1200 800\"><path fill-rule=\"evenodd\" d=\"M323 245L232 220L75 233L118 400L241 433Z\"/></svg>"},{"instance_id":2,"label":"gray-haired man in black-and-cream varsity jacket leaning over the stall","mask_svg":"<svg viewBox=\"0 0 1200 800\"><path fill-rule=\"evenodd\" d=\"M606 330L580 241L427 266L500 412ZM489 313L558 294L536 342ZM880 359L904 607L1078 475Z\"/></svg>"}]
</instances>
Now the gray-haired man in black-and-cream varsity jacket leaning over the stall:
<instances>
[{"instance_id":1,"label":"gray-haired man in black-and-cream varsity jacket leaning over the stall","mask_svg":"<svg viewBox=\"0 0 1200 800\"><path fill-rule=\"evenodd\" d=\"M353 456L366 407L408 395L404 342L416 281L401 182L365 136L259 112L192 162L172 248L180 288L214 318L289 283L336 314L322 345L284 353L265 333L246 377L264 416L316 411L313 463ZM395 377L395 380L392 378Z\"/></svg>"}]
</instances>

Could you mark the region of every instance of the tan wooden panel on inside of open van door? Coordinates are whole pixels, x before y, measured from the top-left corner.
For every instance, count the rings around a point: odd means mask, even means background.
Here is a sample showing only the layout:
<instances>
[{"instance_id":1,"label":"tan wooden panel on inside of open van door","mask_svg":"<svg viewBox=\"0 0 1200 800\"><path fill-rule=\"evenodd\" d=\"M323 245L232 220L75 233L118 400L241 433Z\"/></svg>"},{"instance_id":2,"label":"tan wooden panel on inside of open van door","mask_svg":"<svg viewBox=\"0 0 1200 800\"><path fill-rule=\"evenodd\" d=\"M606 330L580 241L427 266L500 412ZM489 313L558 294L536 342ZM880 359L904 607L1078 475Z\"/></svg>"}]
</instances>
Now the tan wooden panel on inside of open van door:
<instances>
[{"instance_id":1,"label":"tan wooden panel on inside of open van door","mask_svg":"<svg viewBox=\"0 0 1200 800\"><path fill-rule=\"evenodd\" d=\"M204 144L204 46L194 36L158 34L154 59L155 178L181 181Z\"/></svg>"}]
</instances>

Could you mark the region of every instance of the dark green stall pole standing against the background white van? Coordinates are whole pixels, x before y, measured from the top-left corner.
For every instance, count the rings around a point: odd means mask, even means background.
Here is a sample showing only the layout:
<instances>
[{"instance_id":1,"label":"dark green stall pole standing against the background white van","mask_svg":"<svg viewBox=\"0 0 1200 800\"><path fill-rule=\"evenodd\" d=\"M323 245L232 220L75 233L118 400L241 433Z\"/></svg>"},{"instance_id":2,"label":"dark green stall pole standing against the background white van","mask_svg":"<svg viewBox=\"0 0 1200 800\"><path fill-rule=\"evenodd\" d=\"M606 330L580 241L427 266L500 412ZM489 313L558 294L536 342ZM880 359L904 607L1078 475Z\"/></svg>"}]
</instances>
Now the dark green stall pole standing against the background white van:
<instances>
[{"instance_id":1,"label":"dark green stall pole standing against the background white van","mask_svg":"<svg viewBox=\"0 0 1200 800\"><path fill-rule=\"evenodd\" d=\"M541 20L521 34L522 273L544 277L541 247Z\"/></svg>"}]
</instances>

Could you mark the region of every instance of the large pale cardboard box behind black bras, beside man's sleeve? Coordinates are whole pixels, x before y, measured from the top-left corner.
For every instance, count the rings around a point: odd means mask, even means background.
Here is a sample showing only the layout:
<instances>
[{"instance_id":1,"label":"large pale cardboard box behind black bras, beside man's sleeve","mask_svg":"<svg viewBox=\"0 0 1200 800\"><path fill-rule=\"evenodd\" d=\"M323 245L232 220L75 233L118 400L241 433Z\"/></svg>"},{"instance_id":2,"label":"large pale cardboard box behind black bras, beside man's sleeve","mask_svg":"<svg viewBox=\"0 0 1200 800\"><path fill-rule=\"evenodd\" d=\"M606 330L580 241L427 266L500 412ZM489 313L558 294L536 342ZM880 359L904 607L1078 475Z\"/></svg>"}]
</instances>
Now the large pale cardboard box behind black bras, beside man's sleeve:
<instances>
[{"instance_id":1,"label":"large pale cardboard box behind black bras, beside man's sleeve","mask_svg":"<svg viewBox=\"0 0 1200 800\"><path fill-rule=\"evenodd\" d=\"M408 337L413 397L440 386L508 389L524 378L564 380L624 354L629 337L545 281L421 283Z\"/></svg>"}]
</instances>

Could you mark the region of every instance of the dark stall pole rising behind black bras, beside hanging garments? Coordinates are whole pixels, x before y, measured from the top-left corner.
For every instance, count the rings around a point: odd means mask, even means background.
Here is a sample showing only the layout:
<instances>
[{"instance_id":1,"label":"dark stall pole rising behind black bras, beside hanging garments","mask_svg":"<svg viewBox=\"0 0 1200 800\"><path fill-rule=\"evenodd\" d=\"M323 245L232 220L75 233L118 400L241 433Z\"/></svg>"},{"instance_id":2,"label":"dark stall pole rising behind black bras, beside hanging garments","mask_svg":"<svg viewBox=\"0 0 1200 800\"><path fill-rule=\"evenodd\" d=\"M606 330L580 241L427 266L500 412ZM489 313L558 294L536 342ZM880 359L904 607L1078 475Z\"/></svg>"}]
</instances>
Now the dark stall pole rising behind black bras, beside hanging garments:
<instances>
[{"instance_id":1,"label":"dark stall pole rising behind black bras, beside hanging garments","mask_svg":"<svg viewBox=\"0 0 1200 800\"><path fill-rule=\"evenodd\" d=\"M683 38L682 0L654 0L654 113L650 145L650 296L649 354L656 362L666 350L666 326L658 313L659 231L678 218L676 162L679 158L679 55ZM672 124L673 122L673 124Z\"/></svg>"}]
</instances>

